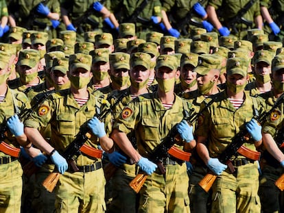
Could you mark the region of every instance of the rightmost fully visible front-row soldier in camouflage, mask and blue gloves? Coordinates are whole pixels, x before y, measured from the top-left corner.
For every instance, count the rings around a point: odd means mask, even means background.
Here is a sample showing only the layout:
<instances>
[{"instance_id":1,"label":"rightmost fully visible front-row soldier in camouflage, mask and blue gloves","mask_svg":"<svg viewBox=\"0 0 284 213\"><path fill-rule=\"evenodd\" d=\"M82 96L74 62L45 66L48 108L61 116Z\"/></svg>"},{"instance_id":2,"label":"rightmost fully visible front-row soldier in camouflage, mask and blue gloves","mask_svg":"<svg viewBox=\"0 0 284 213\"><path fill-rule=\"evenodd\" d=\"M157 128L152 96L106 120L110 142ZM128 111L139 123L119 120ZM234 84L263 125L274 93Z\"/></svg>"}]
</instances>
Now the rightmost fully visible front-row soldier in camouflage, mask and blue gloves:
<instances>
[{"instance_id":1,"label":"rightmost fully visible front-row soldier in camouflage, mask and blue gloves","mask_svg":"<svg viewBox=\"0 0 284 213\"><path fill-rule=\"evenodd\" d=\"M212 212L260 212L256 159L233 155L230 160L237 168L234 173L218 159L236 132L242 129L246 128L251 136L244 143L248 149L256 150L262 142L261 126L252 117L261 114L263 105L259 99L244 92L248 79L248 60L230 58L226 70L226 90L215 95L214 102L204 110L203 104L200 108L202 114L198 118L196 150L204 164L218 175L212 188Z\"/></svg>"}]
</instances>

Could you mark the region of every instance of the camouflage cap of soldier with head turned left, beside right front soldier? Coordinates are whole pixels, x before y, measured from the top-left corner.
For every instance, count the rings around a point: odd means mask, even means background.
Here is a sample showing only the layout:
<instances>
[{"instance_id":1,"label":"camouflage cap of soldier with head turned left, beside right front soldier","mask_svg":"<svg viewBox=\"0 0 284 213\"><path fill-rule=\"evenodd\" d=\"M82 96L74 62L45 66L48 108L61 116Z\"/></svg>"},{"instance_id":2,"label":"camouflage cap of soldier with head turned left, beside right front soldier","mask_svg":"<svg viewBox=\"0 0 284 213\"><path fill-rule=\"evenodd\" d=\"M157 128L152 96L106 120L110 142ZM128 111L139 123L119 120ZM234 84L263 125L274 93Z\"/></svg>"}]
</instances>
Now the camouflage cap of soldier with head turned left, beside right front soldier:
<instances>
[{"instance_id":1,"label":"camouflage cap of soldier with head turned left, beside right front soldier","mask_svg":"<svg viewBox=\"0 0 284 213\"><path fill-rule=\"evenodd\" d=\"M211 69L221 69L222 60L217 55L203 54L198 56L198 65L194 72L206 75Z\"/></svg>"}]
</instances>

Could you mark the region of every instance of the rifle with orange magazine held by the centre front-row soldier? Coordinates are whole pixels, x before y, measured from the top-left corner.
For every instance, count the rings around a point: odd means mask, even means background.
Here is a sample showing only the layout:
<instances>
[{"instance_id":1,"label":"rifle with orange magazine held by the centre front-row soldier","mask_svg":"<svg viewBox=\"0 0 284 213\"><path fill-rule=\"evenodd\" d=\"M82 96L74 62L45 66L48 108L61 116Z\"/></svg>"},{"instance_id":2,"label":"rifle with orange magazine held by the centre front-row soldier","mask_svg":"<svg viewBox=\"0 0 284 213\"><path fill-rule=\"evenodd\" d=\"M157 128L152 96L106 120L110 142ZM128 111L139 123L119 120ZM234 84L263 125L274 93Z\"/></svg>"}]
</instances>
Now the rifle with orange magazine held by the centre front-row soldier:
<instances>
[{"instance_id":1,"label":"rifle with orange magazine held by the centre front-row soldier","mask_svg":"<svg viewBox=\"0 0 284 213\"><path fill-rule=\"evenodd\" d=\"M203 110L208 108L209 105L211 105L214 101L215 99L212 98L211 101L206 103L205 108ZM191 108L191 111L187 112L184 119L189 123L189 125L192 125L192 123L197 121L198 116L203 112L203 110L201 110L198 113L194 112L192 114L193 109ZM171 128L169 134L164 138L163 142L161 142L161 144L158 145L156 149L154 149L154 151L150 154L148 158L149 160L157 164L162 174L165 174L165 167L163 166L163 160L165 160L166 158L169 157L171 158L171 156L173 156L174 158L176 158L177 162L182 162L182 161L189 161L189 158L191 156L191 153L182 151L174 146L176 142L178 142L178 137L179 137L178 129L176 128L177 125L178 123ZM147 176L148 175L145 173L139 173L136 177L134 177L134 179L132 179L129 186L135 192L138 193L141 190L145 180L147 179Z\"/></svg>"}]
</instances>

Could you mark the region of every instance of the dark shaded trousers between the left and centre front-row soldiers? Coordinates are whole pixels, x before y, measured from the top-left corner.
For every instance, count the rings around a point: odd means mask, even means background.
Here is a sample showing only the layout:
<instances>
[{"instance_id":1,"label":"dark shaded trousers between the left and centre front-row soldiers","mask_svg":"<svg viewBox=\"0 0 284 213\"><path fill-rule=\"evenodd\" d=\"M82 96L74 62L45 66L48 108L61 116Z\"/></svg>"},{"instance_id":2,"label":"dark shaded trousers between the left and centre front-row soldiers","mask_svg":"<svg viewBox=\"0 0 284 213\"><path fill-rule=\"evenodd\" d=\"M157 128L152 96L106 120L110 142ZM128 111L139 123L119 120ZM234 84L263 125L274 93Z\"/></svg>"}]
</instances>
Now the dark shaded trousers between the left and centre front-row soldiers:
<instances>
[{"instance_id":1,"label":"dark shaded trousers between the left and centre front-row soldiers","mask_svg":"<svg viewBox=\"0 0 284 213\"><path fill-rule=\"evenodd\" d=\"M135 213L137 212L137 194L130 188L129 183L135 177L136 165L123 164L121 167L117 168L111 180L113 201L108 206L107 212Z\"/></svg>"}]
</instances>

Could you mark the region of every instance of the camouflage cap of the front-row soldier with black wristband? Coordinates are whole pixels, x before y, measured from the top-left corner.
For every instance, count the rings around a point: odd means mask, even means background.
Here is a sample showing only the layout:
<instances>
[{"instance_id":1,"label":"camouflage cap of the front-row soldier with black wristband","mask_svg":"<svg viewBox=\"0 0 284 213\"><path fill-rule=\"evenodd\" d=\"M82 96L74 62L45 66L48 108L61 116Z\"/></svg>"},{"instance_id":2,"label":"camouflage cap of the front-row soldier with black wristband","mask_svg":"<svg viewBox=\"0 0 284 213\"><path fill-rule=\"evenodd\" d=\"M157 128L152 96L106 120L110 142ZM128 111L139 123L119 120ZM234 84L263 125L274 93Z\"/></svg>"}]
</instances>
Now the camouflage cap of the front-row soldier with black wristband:
<instances>
[{"instance_id":1,"label":"camouflage cap of the front-row soldier with black wristband","mask_svg":"<svg viewBox=\"0 0 284 213\"><path fill-rule=\"evenodd\" d=\"M87 71L91 70L92 56L84 53L75 53L69 56L69 68L71 70L84 68Z\"/></svg>"}]
</instances>

